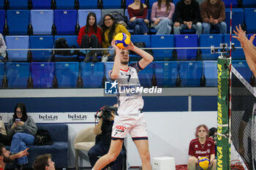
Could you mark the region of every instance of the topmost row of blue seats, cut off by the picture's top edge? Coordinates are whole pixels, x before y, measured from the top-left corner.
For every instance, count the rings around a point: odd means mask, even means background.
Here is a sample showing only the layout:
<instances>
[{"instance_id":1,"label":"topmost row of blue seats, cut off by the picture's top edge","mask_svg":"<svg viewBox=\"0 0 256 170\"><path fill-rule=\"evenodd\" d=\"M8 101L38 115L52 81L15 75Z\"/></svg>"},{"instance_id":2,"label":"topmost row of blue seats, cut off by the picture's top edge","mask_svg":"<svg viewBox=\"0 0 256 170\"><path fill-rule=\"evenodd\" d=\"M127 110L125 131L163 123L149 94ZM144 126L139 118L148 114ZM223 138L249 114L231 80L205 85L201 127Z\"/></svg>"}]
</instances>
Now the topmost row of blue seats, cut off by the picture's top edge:
<instances>
[{"instance_id":1,"label":"topmost row of blue seats, cut off by the picture's top edge","mask_svg":"<svg viewBox=\"0 0 256 170\"><path fill-rule=\"evenodd\" d=\"M141 0L151 9L157 0ZM174 4L180 0L173 0ZM255 0L223 0L226 7L256 7ZM124 8L132 4L133 0L0 0L0 9L110 9ZM8 6L8 7L7 7Z\"/></svg>"}]
</instances>

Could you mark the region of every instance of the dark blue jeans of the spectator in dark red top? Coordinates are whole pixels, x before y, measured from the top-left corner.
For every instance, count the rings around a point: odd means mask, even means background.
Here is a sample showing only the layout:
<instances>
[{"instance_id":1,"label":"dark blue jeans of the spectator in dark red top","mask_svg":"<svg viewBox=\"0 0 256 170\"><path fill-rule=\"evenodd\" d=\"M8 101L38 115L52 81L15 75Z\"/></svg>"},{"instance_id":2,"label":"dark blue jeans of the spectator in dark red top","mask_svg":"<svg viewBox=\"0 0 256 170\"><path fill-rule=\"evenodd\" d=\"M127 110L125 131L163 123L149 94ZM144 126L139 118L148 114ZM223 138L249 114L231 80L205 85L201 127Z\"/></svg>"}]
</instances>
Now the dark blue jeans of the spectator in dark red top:
<instances>
[{"instance_id":1,"label":"dark blue jeans of the spectator in dark red top","mask_svg":"<svg viewBox=\"0 0 256 170\"><path fill-rule=\"evenodd\" d=\"M128 26L134 30L134 34L145 34L148 32L148 26L143 18L137 18L133 22L129 22Z\"/></svg>"}]
</instances>

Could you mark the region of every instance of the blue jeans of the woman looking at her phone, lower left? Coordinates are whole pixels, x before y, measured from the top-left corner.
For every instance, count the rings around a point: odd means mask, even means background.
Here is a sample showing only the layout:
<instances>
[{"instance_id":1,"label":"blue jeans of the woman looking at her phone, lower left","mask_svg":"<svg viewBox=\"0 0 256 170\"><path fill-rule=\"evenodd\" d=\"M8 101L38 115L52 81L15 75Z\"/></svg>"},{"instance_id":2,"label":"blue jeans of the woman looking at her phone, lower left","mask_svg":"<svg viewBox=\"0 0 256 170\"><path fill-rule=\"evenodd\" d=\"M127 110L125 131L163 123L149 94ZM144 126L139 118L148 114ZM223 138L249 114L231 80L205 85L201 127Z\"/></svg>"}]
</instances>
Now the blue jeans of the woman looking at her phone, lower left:
<instances>
[{"instance_id":1,"label":"blue jeans of the woman looking at her phone, lower left","mask_svg":"<svg viewBox=\"0 0 256 170\"><path fill-rule=\"evenodd\" d=\"M11 153L18 153L22 150L25 150L27 145L34 144L34 136L31 134L26 133L16 133L12 136L12 143L11 143ZM28 163L28 157L23 156L18 158L18 164L26 164Z\"/></svg>"}]
</instances>

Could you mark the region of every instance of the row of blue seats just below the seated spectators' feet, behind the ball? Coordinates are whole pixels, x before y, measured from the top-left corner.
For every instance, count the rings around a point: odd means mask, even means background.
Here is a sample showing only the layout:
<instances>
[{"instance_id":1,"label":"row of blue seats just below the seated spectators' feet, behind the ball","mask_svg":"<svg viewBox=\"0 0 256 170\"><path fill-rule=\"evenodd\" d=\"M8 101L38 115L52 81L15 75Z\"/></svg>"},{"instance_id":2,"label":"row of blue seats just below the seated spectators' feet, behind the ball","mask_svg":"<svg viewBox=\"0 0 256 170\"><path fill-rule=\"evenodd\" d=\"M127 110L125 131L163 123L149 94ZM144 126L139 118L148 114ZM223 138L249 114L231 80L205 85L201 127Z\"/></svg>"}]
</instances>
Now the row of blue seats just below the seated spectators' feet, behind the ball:
<instances>
[{"instance_id":1,"label":"row of blue seats just below the seated spectators' feet, behind the ball","mask_svg":"<svg viewBox=\"0 0 256 170\"><path fill-rule=\"evenodd\" d=\"M248 35L249 37L252 34ZM9 61L27 61L29 49L52 49L56 39L64 37L71 47L78 46L78 36L5 36L7 49L27 49L8 50ZM219 53L211 53L211 46L226 47L230 45L230 34L181 34L181 35L132 35L132 42L144 42L146 47L208 47L209 49L155 49L153 50L155 60L217 60ZM232 38L236 47L241 47L237 39ZM256 40L253 42L256 45ZM30 54L30 53L29 53ZM175 56L174 56L175 55ZM200 55L200 56L199 56ZM33 61L50 61L51 50L31 50ZM131 55L131 57L138 57ZM174 57L174 58L173 58ZM244 52L241 48L232 52L233 60L244 59Z\"/></svg>"}]
</instances>

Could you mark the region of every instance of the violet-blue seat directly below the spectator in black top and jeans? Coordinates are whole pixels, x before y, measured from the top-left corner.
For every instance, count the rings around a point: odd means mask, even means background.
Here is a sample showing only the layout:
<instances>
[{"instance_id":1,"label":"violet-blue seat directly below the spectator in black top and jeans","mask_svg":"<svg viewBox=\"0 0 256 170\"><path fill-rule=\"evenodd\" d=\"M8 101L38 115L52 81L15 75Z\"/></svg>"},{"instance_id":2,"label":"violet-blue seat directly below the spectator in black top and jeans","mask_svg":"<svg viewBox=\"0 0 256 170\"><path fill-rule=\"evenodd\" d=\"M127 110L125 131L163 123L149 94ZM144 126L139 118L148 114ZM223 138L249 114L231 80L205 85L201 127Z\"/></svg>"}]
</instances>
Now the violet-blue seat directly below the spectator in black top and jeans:
<instances>
[{"instance_id":1,"label":"violet-blue seat directly below the spectator in black top and jeans","mask_svg":"<svg viewBox=\"0 0 256 170\"><path fill-rule=\"evenodd\" d=\"M175 35L176 47L198 47L197 34ZM178 60L195 60L197 58L197 50L177 50Z\"/></svg>"}]
</instances>

